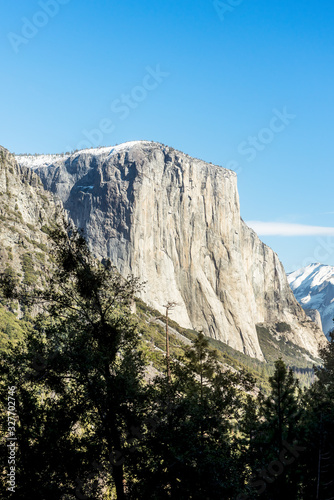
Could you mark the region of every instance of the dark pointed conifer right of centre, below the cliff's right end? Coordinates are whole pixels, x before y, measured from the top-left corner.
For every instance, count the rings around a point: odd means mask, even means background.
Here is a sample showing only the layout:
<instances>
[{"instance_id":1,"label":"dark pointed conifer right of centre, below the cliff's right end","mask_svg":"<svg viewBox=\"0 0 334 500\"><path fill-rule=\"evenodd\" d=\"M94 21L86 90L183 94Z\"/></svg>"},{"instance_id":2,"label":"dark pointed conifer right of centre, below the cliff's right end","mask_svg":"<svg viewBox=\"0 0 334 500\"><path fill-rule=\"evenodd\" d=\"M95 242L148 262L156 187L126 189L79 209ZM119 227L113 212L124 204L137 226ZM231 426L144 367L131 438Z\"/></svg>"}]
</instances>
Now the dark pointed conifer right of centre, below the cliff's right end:
<instances>
[{"instance_id":1,"label":"dark pointed conifer right of centre, below the cliff's right end","mask_svg":"<svg viewBox=\"0 0 334 500\"><path fill-rule=\"evenodd\" d=\"M269 382L270 394L264 396L260 393L257 398L258 411L256 403L249 399L242 425L247 438L242 458L252 470L245 498L257 498L257 494L272 500L284 495L297 498L298 464L292 464L296 462L294 445L300 441L298 380L279 359ZM250 415L254 420L253 427ZM299 452L295 454L299 455Z\"/></svg>"}]
</instances>

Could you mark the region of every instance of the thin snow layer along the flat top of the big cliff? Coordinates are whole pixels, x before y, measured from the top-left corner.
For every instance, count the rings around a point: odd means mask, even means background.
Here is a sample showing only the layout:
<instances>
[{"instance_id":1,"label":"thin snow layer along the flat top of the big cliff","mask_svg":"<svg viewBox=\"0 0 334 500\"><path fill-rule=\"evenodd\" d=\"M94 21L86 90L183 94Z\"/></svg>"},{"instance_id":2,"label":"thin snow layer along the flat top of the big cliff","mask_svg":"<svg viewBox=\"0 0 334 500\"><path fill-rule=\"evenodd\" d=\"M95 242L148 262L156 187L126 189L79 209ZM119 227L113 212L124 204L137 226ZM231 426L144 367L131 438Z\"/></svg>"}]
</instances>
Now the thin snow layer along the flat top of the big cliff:
<instances>
[{"instance_id":1,"label":"thin snow layer along the flat top of the big cliff","mask_svg":"<svg viewBox=\"0 0 334 500\"><path fill-rule=\"evenodd\" d=\"M47 167L48 165L54 165L58 161L66 160L71 156L78 155L94 155L94 156L110 156L116 153L122 153L125 151L129 151L133 146L137 144L151 144L150 141L129 141L124 142L123 144L118 144L117 146L107 146L107 147L99 147L99 148L90 148L90 149L81 149L80 151L76 151L74 153L69 154L54 154L54 155L17 155L16 161L24 166L34 169L40 167Z\"/></svg>"}]
</instances>

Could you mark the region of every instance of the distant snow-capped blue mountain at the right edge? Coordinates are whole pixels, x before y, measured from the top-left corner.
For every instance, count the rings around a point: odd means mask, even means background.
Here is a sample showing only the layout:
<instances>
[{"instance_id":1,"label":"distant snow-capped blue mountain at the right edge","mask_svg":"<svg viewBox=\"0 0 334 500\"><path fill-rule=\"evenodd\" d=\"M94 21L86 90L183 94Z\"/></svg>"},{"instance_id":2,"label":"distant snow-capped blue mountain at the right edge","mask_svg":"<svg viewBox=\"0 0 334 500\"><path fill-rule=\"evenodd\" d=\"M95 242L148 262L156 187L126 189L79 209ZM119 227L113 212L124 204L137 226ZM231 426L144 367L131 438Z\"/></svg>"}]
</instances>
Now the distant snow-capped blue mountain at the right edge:
<instances>
[{"instance_id":1,"label":"distant snow-capped blue mountain at the right edge","mask_svg":"<svg viewBox=\"0 0 334 500\"><path fill-rule=\"evenodd\" d=\"M334 329L334 267L310 264L288 274L296 299L305 310L318 310L324 333Z\"/></svg>"}]
</instances>

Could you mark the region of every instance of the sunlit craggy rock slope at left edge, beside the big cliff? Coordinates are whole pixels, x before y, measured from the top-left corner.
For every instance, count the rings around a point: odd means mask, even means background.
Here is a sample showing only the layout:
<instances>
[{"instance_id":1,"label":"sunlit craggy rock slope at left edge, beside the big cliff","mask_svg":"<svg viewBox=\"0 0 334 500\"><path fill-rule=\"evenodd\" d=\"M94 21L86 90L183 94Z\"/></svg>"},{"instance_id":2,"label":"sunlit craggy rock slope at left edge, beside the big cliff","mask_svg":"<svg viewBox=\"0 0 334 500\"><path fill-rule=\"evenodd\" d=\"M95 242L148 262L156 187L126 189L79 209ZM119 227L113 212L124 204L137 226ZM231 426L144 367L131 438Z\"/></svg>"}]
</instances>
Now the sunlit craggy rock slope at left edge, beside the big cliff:
<instances>
[{"instance_id":1,"label":"sunlit craggy rock slope at left edge, beside the big cliff","mask_svg":"<svg viewBox=\"0 0 334 500\"><path fill-rule=\"evenodd\" d=\"M47 227L62 204L30 168L0 146L0 271L36 282L49 258Z\"/></svg>"}]
</instances>

